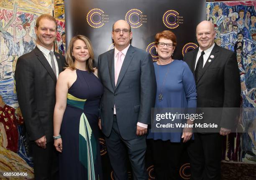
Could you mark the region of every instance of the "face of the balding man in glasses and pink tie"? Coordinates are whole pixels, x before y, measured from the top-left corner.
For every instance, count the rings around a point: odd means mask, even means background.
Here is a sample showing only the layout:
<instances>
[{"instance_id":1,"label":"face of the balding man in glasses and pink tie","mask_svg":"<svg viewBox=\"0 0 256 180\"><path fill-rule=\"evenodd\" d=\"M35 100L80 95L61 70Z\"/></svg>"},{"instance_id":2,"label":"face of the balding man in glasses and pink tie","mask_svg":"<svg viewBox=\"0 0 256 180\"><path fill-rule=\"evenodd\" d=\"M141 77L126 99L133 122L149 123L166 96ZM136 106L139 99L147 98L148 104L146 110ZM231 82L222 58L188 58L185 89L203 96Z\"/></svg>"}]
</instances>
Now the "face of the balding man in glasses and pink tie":
<instances>
[{"instance_id":1,"label":"face of the balding man in glasses and pink tie","mask_svg":"<svg viewBox=\"0 0 256 180\"><path fill-rule=\"evenodd\" d=\"M113 25L113 30L123 30L127 29L130 30L129 24L125 20L118 20L115 22ZM112 31L112 39L114 40L115 47L121 51L125 49L130 44L131 38L132 38L133 33L128 32L128 33L123 33L123 31L120 31L120 33L116 33Z\"/></svg>"}]
</instances>

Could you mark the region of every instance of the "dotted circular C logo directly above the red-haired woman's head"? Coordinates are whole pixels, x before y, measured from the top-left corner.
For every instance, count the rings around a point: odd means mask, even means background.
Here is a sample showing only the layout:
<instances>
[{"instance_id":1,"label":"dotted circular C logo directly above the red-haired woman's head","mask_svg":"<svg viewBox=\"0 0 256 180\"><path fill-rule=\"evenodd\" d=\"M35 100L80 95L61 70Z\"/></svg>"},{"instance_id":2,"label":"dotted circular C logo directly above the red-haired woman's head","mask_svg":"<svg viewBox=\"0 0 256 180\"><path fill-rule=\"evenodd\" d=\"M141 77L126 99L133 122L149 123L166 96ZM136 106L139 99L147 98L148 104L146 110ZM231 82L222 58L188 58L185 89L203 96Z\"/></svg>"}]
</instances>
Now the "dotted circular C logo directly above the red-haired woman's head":
<instances>
[{"instance_id":1,"label":"dotted circular C logo directly above the red-haired woman's head","mask_svg":"<svg viewBox=\"0 0 256 180\"><path fill-rule=\"evenodd\" d=\"M163 23L169 29L175 29L179 26L177 23L179 13L176 10L168 10L163 15Z\"/></svg>"}]
</instances>

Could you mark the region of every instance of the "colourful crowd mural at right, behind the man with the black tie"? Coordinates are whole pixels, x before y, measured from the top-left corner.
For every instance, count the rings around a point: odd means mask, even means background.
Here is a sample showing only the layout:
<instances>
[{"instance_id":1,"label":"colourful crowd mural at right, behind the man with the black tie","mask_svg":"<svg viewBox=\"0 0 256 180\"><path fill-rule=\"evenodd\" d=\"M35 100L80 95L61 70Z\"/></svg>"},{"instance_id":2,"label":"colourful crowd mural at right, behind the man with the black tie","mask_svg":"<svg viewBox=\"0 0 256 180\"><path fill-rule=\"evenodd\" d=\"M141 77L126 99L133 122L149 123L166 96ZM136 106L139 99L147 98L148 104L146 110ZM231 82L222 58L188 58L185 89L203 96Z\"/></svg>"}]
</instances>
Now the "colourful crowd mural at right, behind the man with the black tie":
<instances>
[{"instance_id":1,"label":"colourful crowd mural at right, behind the man with the black tie","mask_svg":"<svg viewBox=\"0 0 256 180\"><path fill-rule=\"evenodd\" d=\"M241 77L242 107L256 107L256 1L210 2L206 19L215 25L215 42L236 52ZM251 112L243 112L244 130L254 120ZM255 127L254 127L255 129ZM248 132L253 132L249 130ZM256 163L256 141L253 133L231 134L223 153L225 160Z\"/></svg>"}]
</instances>

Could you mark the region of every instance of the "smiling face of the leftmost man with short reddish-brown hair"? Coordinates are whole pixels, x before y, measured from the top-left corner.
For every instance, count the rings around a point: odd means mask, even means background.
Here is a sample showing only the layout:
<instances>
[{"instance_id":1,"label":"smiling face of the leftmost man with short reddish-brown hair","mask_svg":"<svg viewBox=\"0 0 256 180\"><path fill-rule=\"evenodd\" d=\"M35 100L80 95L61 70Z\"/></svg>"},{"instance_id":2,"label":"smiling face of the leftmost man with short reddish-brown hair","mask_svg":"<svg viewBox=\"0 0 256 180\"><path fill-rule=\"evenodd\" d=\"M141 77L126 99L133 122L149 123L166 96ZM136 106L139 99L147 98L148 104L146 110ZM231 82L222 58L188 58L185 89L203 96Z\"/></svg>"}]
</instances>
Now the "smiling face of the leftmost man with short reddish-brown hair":
<instances>
[{"instance_id":1,"label":"smiling face of the leftmost man with short reddish-brown hair","mask_svg":"<svg viewBox=\"0 0 256 180\"><path fill-rule=\"evenodd\" d=\"M56 24L52 20L43 18L40 20L38 28L35 27L37 43L51 50L56 38Z\"/></svg>"}]
</instances>

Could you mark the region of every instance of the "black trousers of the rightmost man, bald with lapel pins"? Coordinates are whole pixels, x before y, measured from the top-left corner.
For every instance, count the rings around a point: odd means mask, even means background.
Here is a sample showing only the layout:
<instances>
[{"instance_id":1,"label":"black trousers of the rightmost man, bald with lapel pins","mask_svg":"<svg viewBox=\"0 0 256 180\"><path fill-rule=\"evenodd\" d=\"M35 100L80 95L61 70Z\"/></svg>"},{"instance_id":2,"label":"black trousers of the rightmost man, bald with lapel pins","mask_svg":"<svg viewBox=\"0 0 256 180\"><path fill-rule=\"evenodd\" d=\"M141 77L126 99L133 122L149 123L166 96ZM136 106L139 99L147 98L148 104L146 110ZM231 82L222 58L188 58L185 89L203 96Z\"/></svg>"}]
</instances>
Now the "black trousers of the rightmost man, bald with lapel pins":
<instances>
[{"instance_id":1,"label":"black trousers of the rightmost man, bald with lapel pins","mask_svg":"<svg viewBox=\"0 0 256 180\"><path fill-rule=\"evenodd\" d=\"M191 180L220 180L221 135L194 133L188 146Z\"/></svg>"}]
</instances>

